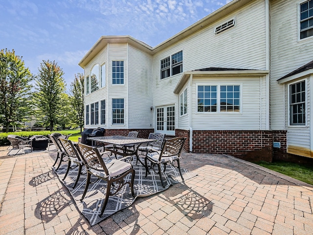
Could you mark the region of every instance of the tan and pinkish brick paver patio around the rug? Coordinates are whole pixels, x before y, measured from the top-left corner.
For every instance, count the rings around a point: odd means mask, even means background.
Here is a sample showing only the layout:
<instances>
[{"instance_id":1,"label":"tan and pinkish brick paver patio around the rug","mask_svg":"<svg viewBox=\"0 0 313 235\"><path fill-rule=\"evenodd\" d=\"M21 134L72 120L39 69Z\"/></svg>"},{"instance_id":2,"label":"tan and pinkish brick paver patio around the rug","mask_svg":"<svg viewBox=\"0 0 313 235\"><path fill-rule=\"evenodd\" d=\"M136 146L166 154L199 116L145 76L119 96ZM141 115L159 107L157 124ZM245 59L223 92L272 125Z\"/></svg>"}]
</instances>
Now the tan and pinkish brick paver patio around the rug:
<instances>
[{"instance_id":1,"label":"tan and pinkish brick paver patio around the rug","mask_svg":"<svg viewBox=\"0 0 313 235\"><path fill-rule=\"evenodd\" d=\"M183 153L198 176L97 225L51 170L56 153L0 147L0 235L312 235L313 186L230 156Z\"/></svg>"}]
</instances>

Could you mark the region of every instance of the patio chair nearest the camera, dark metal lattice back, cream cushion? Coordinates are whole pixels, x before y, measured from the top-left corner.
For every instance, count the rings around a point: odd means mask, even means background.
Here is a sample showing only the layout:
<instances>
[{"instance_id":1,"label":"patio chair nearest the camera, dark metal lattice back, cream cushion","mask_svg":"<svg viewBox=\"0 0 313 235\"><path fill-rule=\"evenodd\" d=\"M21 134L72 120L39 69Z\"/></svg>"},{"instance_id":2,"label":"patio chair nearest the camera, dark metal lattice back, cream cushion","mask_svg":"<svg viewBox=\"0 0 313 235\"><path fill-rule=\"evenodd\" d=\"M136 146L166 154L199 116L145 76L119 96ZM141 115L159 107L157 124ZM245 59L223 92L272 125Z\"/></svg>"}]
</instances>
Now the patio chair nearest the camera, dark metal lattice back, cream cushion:
<instances>
[{"instance_id":1,"label":"patio chair nearest the camera, dark metal lattice back, cream cushion","mask_svg":"<svg viewBox=\"0 0 313 235\"><path fill-rule=\"evenodd\" d=\"M116 194L124 185L129 184L134 197L134 178L135 171L132 164L121 160L106 159L106 162L101 158L100 153L96 147L91 147L83 143L77 144L77 149L84 161L87 169L87 182L82 198L83 201L90 183L91 175L107 181L108 186L106 190L106 196L102 205L99 216L101 217L109 201L109 196ZM131 182L124 182L124 177L128 174L132 174ZM111 187L115 183L114 192L111 192Z\"/></svg>"}]
</instances>

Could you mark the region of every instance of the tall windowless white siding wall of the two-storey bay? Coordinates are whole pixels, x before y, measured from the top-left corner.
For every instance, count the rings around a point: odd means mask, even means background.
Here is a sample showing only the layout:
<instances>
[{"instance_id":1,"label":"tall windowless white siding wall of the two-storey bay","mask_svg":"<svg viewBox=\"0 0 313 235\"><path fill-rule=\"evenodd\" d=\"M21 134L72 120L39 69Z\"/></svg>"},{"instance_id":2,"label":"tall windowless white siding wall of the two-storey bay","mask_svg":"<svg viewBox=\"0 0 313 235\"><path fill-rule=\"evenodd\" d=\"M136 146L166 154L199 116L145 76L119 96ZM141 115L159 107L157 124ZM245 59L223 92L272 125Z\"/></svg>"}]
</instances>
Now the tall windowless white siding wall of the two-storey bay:
<instances>
[{"instance_id":1,"label":"tall windowless white siding wall of the two-storey bay","mask_svg":"<svg viewBox=\"0 0 313 235\"><path fill-rule=\"evenodd\" d=\"M153 128L152 56L129 46L129 128Z\"/></svg>"}]
</instances>

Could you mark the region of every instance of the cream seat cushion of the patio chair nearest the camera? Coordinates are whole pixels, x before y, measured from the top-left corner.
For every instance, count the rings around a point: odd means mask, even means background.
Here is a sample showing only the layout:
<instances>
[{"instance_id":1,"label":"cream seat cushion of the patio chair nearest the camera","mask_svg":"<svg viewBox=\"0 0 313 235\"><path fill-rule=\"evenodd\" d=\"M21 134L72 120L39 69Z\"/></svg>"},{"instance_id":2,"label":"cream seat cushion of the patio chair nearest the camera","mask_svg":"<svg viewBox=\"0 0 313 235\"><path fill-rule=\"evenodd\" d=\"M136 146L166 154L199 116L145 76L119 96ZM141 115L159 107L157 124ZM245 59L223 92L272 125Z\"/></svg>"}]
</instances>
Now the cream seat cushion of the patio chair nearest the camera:
<instances>
[{"instance_id":1,"label":"cream seat cushion of the patio chair nearest the camera","mask_svg":"<svg viewBox=\"0 0 313 235\"><path fill-rule=\"evenodd\" d=\"M132 165L130 163L123 162L120 160L115 160L115 159L108 161L106 163L106 166L108 168L109 175L106 175L105 172L102 170L97 170L93 168L90 168L89 171L92 174L99 176L101 178L109 178L109 177L116 177L132 168Z\"/></svg>"}]
</instances>

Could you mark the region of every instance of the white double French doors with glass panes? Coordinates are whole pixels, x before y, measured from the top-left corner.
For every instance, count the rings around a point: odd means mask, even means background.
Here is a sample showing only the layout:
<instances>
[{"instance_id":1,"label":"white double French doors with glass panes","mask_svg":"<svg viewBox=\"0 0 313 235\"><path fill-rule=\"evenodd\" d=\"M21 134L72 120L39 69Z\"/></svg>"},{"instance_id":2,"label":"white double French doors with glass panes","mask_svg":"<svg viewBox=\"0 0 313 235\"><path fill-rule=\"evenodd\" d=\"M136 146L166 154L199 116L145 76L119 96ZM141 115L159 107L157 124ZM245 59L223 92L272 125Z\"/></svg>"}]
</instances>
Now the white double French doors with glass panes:
<instances>
[{"instance_id":1,"label":"white double French doors with glass panes","mask_svg":"<svg viewBox=\"0 0 313 235\"><path fill-rule=\"evenodd\" d=\"M156 132L175 135L175 106L156 107Z\"/></svg>"}]
</instances>

